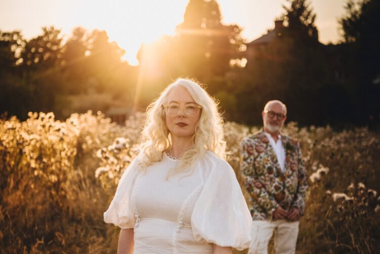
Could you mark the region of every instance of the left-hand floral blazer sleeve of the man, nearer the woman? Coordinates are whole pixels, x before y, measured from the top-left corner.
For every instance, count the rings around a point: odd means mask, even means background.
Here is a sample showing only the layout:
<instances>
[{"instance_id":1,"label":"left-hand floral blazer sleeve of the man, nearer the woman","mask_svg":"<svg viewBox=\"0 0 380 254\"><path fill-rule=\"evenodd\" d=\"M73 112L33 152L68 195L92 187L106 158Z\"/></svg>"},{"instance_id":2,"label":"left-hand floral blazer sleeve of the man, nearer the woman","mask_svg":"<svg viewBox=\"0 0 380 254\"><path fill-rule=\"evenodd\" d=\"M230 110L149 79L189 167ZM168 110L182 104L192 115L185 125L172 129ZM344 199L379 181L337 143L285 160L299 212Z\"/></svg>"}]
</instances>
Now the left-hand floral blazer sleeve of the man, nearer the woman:
<instances>
[{"instance_id":1,"label":"left-hand floral blazer sleeve of the man, nearer the woman","mask_svg":"<svg viewBox=\"0 0 380 254\"><path fill-rule=\"evenodd\" d=\"M272 219L273 212L279 204L273 196L268 194L264 188L264 183L257 177L253 156L254 149L248 138L243 139L240 150L240 170L243 175L243 186L251 195L254 202L257 202L267 212L268 217ZM262 188L256 188L255 185L259 185Z\"/></svg>"}]
</instances>

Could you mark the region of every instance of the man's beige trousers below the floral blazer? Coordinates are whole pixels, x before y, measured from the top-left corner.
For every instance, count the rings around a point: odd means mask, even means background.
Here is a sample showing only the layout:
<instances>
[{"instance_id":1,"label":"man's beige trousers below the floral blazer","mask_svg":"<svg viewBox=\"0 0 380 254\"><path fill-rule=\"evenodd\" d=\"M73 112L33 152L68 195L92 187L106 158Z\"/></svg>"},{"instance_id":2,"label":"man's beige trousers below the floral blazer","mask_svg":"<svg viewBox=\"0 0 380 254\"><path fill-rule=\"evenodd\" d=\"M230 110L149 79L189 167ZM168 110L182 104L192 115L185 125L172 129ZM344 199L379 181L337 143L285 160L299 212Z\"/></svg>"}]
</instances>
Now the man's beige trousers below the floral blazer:
<instances>
[{"instance_id":1,"label":"man's beige trousers below the floral blazer","mask_svg":"<svg viewBox=\"0 0 380 254\"><path fill-rule=\"evenodd\" d=\"M278 221L253 221L251 238L248 254L267 254L268 243L275 232L275 249L278 254L295 252L295 245L298 236L297 222Z\"/></svg>"}]
</instances>

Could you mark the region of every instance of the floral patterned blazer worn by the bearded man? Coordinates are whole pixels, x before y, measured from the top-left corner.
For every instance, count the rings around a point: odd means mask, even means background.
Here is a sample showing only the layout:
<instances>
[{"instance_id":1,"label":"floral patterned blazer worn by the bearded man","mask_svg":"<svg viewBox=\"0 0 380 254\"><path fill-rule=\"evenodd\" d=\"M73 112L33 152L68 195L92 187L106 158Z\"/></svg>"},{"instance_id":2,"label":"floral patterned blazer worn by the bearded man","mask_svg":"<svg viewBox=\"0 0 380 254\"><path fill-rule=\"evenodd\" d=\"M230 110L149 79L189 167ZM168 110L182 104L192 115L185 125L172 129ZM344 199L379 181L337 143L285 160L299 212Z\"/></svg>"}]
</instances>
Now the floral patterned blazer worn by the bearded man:
<instances>
[{"instance_id":1,"label":"floral patterned blazer worn by the bearded man","mask_svg":"<svg viewBox=\"0 0 380 254\"><path fill-rule=\"evenodd\" d=\"M305 209L307 175L299 143L283 135L281 141L285 149L284 172L263 130L242 141L240 169L243 185L250 193L254 221L273 220L279 205L285 210L296 207L301 215Z\"/></svg>"}]
</instances>

